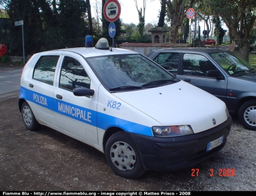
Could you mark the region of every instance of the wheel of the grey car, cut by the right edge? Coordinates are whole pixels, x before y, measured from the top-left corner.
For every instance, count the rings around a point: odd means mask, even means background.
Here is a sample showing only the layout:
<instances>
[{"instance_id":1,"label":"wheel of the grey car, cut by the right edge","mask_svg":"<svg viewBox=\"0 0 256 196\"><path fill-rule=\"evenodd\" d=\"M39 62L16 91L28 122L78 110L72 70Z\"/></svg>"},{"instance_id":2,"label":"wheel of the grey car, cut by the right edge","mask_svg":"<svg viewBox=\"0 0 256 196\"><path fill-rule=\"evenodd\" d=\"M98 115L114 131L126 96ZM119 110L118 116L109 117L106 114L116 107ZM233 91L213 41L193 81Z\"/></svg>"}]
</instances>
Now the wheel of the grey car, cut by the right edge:
<instances>
[{"instance_id":1,"label":"wheel of the grey car, cut by the right edge","mask_svg":"<svg viewBox=\"0 0 256 196\"><path fill-rule=\"evenodd\" d=\"M239 121L248 130L256 130L256 100L245 102L238 112Z\"/></svg>"}]
</instances>

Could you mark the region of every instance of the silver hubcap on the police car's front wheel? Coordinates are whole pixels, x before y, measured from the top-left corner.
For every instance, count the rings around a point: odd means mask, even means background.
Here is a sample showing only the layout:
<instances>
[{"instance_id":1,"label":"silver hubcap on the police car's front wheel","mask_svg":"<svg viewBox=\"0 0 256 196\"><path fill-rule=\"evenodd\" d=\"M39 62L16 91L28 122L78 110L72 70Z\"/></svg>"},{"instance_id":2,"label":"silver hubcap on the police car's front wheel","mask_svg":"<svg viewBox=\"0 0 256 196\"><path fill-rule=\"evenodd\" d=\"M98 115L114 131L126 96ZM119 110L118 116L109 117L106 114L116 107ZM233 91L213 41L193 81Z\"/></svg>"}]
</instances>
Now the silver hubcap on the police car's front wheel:
<instances>
[{"instance_id":1,"label":"silver hubcap on the police car's front wheel","mask_svg":"<svg viewBox=\"0 0 256 196\"><path fill-rule=\"evenodd\" d=\"M136 154L132 147L125 142L115 142L110 149L110 157L120 170L132 170L136 163Z\"/></svg>"}]
</instances>

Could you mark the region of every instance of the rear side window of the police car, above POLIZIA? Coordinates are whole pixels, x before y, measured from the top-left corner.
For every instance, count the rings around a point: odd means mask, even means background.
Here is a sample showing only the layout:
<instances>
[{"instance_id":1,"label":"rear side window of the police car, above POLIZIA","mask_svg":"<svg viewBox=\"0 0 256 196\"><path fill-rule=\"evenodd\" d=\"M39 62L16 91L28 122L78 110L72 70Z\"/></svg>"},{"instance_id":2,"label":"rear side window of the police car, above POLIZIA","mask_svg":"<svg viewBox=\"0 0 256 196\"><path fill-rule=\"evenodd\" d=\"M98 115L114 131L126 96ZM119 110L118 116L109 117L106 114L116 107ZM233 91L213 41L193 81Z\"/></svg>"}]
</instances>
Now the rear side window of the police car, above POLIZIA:
<instances>
[{"instance_id":1,"label":"rear side window of the police car, above POLIZIA","mask_svg":"<svg viewBox=\"0 0 256 196\"><path fill-rule=\"evenodd\" d=\"M36 62L33 79L53 85L54 73L60 56L41 56Z\"/></svg>"}]
</instances>

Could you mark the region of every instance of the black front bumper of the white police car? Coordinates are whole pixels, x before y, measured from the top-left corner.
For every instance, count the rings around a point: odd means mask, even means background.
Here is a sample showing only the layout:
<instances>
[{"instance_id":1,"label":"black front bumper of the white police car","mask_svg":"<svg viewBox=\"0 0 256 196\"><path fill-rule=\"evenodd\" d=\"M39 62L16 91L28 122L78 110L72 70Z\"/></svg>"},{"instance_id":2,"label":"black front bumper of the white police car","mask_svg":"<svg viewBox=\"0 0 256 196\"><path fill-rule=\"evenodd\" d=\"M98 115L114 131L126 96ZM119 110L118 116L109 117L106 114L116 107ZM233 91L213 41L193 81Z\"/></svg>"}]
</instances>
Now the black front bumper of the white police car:
<instances>
[{"instance_id":1,"label":"black front bumper of the white police car","mask_svg":"<svg viewBox=\"0 0 256 196\"><path fill-rule=\"evenodd\" d=\"M191 167L218 153L226 144L232 118L204 132L191 135L159 138L131 133L137 144L146 170L173 171ZM208 142L224 135L223 143L206 151Z\"/></svg>"}]
</instances>

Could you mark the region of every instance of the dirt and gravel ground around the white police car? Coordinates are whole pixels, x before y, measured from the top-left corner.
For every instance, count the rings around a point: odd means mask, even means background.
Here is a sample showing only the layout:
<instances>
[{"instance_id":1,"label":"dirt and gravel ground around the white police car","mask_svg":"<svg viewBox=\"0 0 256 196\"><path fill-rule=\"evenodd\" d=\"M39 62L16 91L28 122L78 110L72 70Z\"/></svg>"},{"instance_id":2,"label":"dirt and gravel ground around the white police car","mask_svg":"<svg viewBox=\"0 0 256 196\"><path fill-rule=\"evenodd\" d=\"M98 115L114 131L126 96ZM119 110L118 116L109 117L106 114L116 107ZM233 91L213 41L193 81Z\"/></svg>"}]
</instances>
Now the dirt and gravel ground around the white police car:
<instances>
[{"instance_id":1,"label":"dirt and gravel ground around the white police car","mask_svg":"<svg viewBox=\"0 0 256 196\"><path fill-rule=\"evenodd\" d=\"M6 94L0 98L0 190L256 190L256 132L236 119L226 146L209 160L177 172L148 171L125 179L93 147L45 126L26 130L17 106L19 91Z\"/></svg>"}]
</instances>

